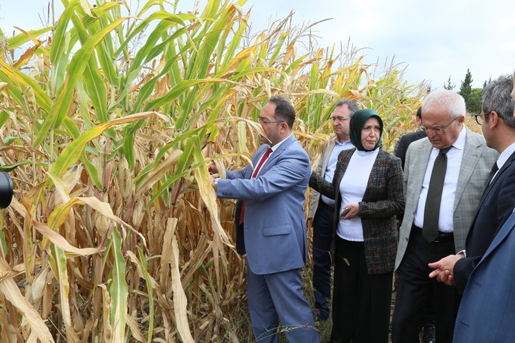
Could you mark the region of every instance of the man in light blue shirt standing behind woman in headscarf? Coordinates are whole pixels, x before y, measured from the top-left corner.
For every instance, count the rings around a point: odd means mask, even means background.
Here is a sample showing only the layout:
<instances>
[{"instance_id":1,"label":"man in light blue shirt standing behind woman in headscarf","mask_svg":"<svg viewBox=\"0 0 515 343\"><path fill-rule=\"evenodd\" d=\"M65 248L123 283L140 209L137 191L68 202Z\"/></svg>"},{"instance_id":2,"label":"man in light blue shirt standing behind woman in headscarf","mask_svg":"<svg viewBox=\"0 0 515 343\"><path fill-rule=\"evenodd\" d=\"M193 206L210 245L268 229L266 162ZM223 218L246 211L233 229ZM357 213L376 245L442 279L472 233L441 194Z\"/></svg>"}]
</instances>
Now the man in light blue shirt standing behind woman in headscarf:
<instances>
[{"instance_id":1,"label":"man in light blue shirt standing behind woman in headscarf","mask_svg":"<svg viewBox=\"0 0 515 343\"><path fill-rule=\"evenodd\" d=\"M336 138L325 146L320 157L317 173L332 182L336 170L336 160L342 150L354 147L350 141L349 123L358 104L350 99L341 99L334 105L331 113L332 126ZM329 317L329 301L331 298L331 245L334 235L333 226L334 200L313 191L310 196L308 220L313 227L312 257L314 319L326 320Z\"/></svg>"}]
</instances>

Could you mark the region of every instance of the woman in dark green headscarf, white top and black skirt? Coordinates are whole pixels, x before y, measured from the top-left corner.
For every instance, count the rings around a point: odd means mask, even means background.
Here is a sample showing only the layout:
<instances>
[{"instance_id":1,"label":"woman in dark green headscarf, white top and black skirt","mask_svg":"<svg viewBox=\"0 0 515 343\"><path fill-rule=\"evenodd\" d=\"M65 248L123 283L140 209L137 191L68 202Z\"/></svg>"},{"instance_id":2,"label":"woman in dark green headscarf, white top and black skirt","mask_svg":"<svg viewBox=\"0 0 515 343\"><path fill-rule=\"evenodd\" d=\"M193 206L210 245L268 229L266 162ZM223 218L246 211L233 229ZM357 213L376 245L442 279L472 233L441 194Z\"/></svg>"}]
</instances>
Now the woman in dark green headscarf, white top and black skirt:
<instances>
[{"instance_id":1,"label":"woman in dark green headscarf, white top and black skirt","mask_svg":"<svg viewBox=\"0 0 515 343\"><path fill-rule=\"evenodd\" d=\"M400 159L380 149L382 129L374 110L356 111L355 148L339 154L332 183L310 178L310 187L336 200L331 342L388 342L404 195Z\"/></svg>"}]
</instances>

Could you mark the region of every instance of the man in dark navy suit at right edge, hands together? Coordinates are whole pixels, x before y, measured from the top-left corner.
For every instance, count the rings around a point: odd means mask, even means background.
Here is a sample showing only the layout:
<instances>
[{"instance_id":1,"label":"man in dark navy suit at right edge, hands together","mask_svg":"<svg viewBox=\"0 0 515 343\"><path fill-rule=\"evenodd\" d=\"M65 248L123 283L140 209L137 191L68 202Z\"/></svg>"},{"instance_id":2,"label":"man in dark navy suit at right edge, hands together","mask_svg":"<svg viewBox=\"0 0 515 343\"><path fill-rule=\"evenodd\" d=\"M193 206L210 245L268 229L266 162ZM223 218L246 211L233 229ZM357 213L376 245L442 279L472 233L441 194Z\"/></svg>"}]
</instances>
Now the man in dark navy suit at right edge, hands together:
<instances>
[{"instance_id":1,"label":"man in dark navy suit at right edge, hands together","mask_svg":"<svg viewBox=\"0 0 515 343\"><path fill-rule=\"evenodd\" d=\"M482 113L476 115L476 120L481 124L487 145L501 156L479 202L465 250L429 265L435 269L431 277L448 285L455 284L460 293L464 292L472 270L515 206L515 102L512 89L513 81L509 75L502 75L483 88Z\"/></svg>"}]
</instances>

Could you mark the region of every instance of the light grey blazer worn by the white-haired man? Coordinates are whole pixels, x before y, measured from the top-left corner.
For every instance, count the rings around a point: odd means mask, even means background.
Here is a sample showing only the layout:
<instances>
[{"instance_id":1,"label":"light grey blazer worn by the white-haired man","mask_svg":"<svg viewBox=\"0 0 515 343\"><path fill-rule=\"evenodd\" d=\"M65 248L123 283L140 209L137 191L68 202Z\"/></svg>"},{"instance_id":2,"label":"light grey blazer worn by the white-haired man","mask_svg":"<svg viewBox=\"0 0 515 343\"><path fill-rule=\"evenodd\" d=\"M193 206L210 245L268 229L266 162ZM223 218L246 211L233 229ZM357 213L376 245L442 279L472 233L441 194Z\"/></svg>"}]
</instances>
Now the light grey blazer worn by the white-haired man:
<instances>
[{"instance_id":1,"label":"light grey blazer worn by the white-haired man","mask_svg":"<svg viewBox=\"0 0 515 343\"><path fill-rule=\"evenodd\" d=\"M468 229L481 194L486 187L488 175L499 154L486 146L481 134L472 132L468 128L463 159L459 169L458 184L454 200L454 243L456 252L464 250ZM428 138L414 141L408 147L406 163L404 164L404 197L406 208L404 219L400 226L399 247L396 257L396 270L399 267L404 252L408 246L413 218L417 210L418 199L422 189L422 181L431 155L433 145Z\"/></svg>"}]
</instances>

